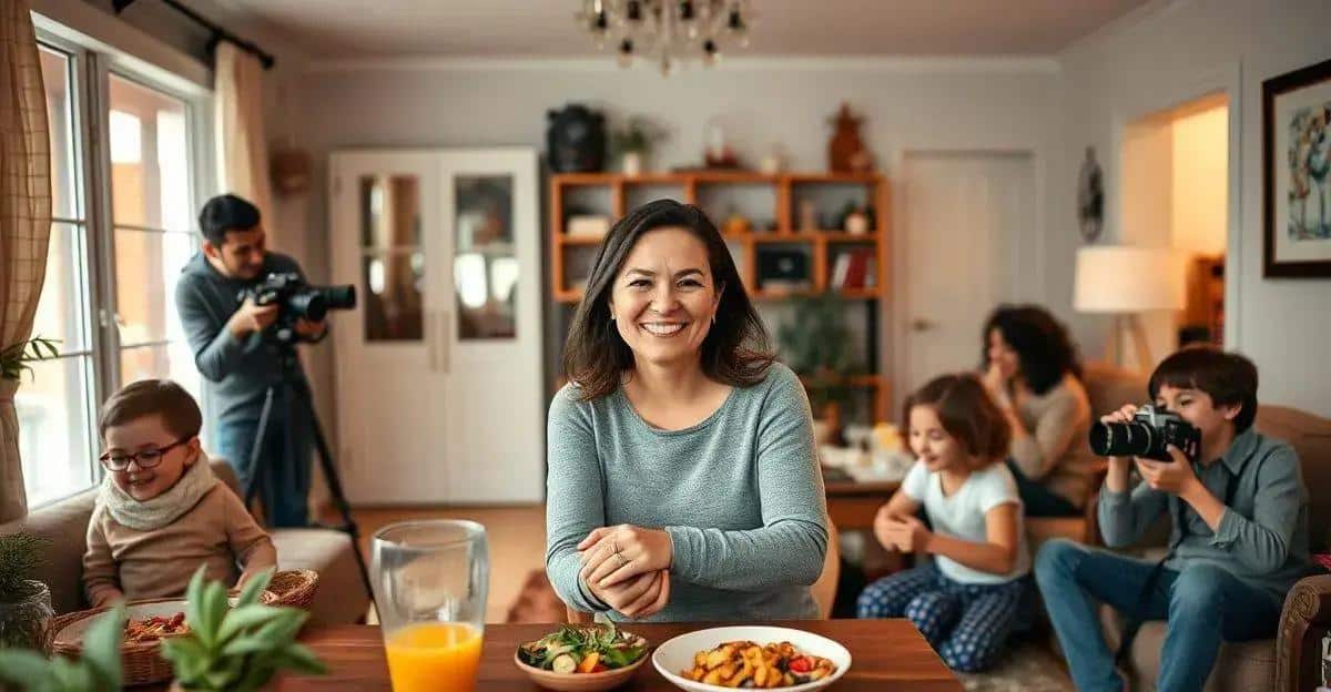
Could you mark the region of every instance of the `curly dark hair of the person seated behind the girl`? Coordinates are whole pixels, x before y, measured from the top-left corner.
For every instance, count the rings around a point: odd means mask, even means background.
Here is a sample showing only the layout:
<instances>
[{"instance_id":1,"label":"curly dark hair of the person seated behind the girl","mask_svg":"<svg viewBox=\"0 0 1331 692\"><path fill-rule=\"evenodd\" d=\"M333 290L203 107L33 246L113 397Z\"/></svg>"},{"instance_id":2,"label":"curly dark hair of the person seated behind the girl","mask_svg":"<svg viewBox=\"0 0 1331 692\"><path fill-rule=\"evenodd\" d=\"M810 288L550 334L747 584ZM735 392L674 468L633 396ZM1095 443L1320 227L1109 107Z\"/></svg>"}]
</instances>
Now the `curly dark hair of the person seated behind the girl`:
<instances>
[{"instance_id":1,"label":"curly dark hair of the person seated behind the girl","mask_svg":"<svg viewBox=\"0 0 1331 692\"><path fill-rule=\"evenodd\" d=\"M1002 334L1002 341L1017 351L1021 362L1021 377L1036 394L1044 394L1071 373L1081 379L1081 359L1067 327L1049 310L1038 305L1000 305L981 334L981 362L988 362L989 334L993 330Z\"/></svg>"}]
</instances>

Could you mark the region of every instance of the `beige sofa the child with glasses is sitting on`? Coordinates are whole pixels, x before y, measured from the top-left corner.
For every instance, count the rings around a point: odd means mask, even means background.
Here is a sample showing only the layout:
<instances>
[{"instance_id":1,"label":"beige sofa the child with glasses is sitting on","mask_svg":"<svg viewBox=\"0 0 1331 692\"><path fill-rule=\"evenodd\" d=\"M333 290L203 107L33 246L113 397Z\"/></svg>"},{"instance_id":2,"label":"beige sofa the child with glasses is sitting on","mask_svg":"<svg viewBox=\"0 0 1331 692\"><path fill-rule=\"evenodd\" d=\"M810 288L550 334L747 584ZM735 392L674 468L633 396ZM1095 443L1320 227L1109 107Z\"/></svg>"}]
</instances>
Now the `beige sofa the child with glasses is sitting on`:
<instances>
[{"instance_id":1,"label":"beige sofa the child with glasses is sitting on","mask_svg":"<svg viewBox=\"0 0 1331 692\"><path fill-rule=\"evenodd\" d=\"M230 464L213 459L212 467L237 492L236 474ZM96 498L97 490L88 490L39 507L23 519L0 524L0 535L28 531L51 542L36 579L51 588L56 613L88 607L83 591L83 554ZM355 623L365 617L370 596L361 582L350 536L327 528L277 528L269 534L277 548L280 570L303 568L319 574L318 591L310 606L310 621Z\"/></svg>"}]
</instances>

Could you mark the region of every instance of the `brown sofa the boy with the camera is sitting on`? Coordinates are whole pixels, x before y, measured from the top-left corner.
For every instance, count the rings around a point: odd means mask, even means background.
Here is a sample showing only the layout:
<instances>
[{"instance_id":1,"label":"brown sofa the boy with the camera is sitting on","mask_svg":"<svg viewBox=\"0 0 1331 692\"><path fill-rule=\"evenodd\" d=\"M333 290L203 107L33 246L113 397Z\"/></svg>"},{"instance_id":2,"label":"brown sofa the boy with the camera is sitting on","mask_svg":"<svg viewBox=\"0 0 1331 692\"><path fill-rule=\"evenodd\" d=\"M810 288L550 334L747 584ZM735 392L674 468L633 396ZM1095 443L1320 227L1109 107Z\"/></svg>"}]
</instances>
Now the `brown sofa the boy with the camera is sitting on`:
<instances>
[{"instance_id":1,"label":"brown sofa the boy with the camera is sitting on","mask_svg":"<svg viewBox=\"0 0 1331 692\"><path fill-rule=\"evenodd\" d=\"M1099 415L1129 402L1146 401L1146 378L1103 365L1087 366L1086 394L1091 411ZM1299 454L1303 483L1310 494L1308 528L1312 552L1331 550L1331 421L1283 406L1258 407L1255 427L1266 435L1280 438ZM1098 543L1094 526L1094 498L1082 518L1030 519L1032 550L1053 536ZM1044 523L1044 526L1041 526ZM1090 540L1094 539L1094 540ZM1169 519L1149 531L1141 546L1126 552L1142 558L1163 556L1169 540ZM1122 621L1105 607L1101 611L1105 639L1118 648ZM1284 599L1276 639L1226 643L1207 681L1207 692L1275 691L1307 692L1322 683L1320 643L1331 628L1331 575L1322 574L1300 580ZM1131 689L1155 689L1165 645L1165 623L1145 623L1133 641L1127 669Z\"/></svg>"}]
</instances>

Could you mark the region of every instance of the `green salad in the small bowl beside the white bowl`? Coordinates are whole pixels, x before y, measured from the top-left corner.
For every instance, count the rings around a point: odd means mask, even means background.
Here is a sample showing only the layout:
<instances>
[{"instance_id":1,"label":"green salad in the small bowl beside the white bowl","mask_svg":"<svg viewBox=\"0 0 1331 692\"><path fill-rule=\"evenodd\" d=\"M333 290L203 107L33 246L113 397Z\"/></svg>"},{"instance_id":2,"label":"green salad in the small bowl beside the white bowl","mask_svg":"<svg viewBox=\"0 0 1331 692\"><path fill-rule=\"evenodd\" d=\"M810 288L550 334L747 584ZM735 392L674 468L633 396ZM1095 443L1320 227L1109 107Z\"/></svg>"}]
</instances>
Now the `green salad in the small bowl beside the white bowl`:
<instances>
[{"instance_id":1,"label":"green salad in the small bowl beside the white bowl","mask_svg":"<svg viewBox=\"0 0 1331 692\"><path fill-rule=\"evenodd\" d=\"M518 647L518 660L556 673L599 673L638 663L647 640L614 624L563 625Z\"/></svg>"}]
</instances>

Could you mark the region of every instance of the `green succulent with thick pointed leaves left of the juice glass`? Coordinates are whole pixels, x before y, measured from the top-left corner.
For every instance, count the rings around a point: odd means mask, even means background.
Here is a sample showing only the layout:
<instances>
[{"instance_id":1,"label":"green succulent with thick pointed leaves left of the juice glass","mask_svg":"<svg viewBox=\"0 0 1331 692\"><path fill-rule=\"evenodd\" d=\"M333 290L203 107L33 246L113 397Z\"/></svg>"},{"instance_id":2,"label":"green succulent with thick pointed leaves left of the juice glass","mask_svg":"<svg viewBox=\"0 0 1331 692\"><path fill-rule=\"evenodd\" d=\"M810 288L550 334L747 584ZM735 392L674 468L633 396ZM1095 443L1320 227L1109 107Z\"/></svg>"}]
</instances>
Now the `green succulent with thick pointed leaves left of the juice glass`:
<instances>
[{"instance_id":1,"label":"green succulent with thick pointed leaves left of the juice glass","mask_svg":"<svg viewBox=\"0 0 1331 692\"><path fill-rule=\"evenodd\" d=\"M189 633L162 641L176 673L173 691L253 692L280 669L326 672L313 651L295 643L309 613L258 602L272 579L269 570L246 582L233 607L226 587L205 583L202 567L194 572L185 591Z\"/></svg>"}]
</instances>

